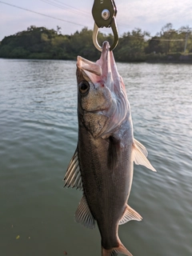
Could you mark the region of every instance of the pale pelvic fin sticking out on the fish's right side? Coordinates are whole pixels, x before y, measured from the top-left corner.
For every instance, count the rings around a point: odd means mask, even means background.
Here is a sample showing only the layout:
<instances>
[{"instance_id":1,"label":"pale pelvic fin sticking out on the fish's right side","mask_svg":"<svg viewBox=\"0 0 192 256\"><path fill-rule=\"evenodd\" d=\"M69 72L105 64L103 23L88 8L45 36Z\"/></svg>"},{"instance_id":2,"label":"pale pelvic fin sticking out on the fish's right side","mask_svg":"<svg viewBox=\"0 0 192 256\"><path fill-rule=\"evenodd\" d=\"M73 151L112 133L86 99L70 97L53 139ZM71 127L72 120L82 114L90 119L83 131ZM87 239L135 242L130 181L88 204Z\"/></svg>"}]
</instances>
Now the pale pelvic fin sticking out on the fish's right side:
<instances>
[{"instance_id":1,"label":"pale pelvic fin sticking out on the fish's right side","mask_svg":"<svg viewBox=\"0 0 192 256\"><path fill-rule=\"evenodd\" d=\"M150 164L150 161L146 158L147 151L145 146L142 143L138 142L134 139L133 143L133 160L136 165L146 166L146 168L157 171L154 167Z\"/></svg>"}]
</instances>

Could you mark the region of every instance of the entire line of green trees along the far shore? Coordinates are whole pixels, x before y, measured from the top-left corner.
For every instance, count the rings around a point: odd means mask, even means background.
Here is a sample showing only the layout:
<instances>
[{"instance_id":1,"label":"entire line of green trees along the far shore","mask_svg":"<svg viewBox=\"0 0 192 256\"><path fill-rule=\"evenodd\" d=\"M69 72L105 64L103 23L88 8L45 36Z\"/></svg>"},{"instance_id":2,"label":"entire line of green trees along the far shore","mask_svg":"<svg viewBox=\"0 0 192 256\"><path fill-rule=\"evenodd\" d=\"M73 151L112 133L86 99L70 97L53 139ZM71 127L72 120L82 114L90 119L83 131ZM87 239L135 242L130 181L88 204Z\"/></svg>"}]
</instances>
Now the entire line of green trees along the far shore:
<instances>
[{"instance_id":1,"label":"entire line of green trees along the far shore","mask_svg":"<svg viewBox=\"0 0 192 256\"><path fill-rule=\"evenodd\" d=\"M80 32L63 35L46 27L30 26L2 39L0 58L42 58L73 60L77 55L95 61L100 53L92 42L92 30L86 27ZM112 34L98 33L98 42L112 43ZM192 30L182 26L174 30L171 23L162 27L154 37L141 29L127 32L119 38L114 50L118 62L192 62Z\"/></svg>"}]
</instances>

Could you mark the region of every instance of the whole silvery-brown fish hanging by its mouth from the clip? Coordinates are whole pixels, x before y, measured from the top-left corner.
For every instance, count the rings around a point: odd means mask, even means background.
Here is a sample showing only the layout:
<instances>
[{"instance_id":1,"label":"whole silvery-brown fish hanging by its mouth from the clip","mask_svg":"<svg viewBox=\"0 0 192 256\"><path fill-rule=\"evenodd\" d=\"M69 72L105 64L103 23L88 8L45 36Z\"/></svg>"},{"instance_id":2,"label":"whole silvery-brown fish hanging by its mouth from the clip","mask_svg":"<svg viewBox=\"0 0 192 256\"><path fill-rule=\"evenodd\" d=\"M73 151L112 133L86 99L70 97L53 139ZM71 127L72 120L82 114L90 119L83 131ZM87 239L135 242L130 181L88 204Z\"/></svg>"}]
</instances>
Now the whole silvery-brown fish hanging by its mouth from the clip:
<instances>
[{"instance_id":1,"label":"whole silvery-brown fish hanging by its mouth from the clip","mask_svg":"<svg viewBox=\"0 0 192 256\"><path fill-rule=\"evenodd\" d=\"M126 87L110 50L103 42L97 62L78 56L78 145L64 177L64 186L82 190L76 222L95 223L102 238L102 256L129 250L118 237L118 226L142 216L127 204L134 162L156 171L146 147L134 138Z\"/></svg>"}]
</instances>

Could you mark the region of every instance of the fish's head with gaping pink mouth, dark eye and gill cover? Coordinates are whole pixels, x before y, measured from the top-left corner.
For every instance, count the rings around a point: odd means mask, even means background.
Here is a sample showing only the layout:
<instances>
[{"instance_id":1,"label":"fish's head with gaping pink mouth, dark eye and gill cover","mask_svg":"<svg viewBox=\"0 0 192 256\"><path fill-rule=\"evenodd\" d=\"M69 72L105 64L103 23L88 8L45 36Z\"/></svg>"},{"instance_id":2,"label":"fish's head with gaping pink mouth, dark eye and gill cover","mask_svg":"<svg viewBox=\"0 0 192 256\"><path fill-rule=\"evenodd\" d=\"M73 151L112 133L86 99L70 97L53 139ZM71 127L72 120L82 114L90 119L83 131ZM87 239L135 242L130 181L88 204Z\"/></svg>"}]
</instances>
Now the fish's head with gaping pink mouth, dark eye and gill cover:
<instances>
[{"instance_id":1,"label":"fish's head with gaping pink mouth, dark eye and gill cover","mask_svg":"<svg viewBox=\"0 0 192 256\"><path fill-rule=\"evenodd\" d=\"M78 56L78 117L94 138L107 138L118 130L130 111L126 88L104 42L97 62Z\"/></svg>"}]
</instances>

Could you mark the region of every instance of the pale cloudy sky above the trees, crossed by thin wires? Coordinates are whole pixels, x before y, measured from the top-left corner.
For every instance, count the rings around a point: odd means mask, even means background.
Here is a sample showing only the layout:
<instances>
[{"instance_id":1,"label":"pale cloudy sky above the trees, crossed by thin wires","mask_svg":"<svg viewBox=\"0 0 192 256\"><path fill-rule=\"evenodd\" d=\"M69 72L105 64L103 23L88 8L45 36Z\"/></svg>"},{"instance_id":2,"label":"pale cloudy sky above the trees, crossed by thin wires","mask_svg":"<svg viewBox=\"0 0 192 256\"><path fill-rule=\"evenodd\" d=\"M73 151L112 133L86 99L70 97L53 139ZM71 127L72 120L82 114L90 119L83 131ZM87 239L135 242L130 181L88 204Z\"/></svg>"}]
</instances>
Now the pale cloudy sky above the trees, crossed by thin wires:
<instances>
[{"instance_id":1,"label":"pale cloudy sky above the trees, crossed by thin wires","mask_svg":"<svg viewBox=\"0 0 192 256\"><path fill-rule=\"evenodd\" d=\"M192 27L192 0L114 0L114 2L118 8L116 20L120 36L134 28L150 32L153 36L169 22L176 30L181 26ZM0 0L0 41L5 36L26 30L32 25L54 30L59 26L62 34L74 34L85 26L93 30L94 19L91 14L93 4L94 0ZM112 33L110 28L100 31Z\"/></svg>"}]
</instances>

